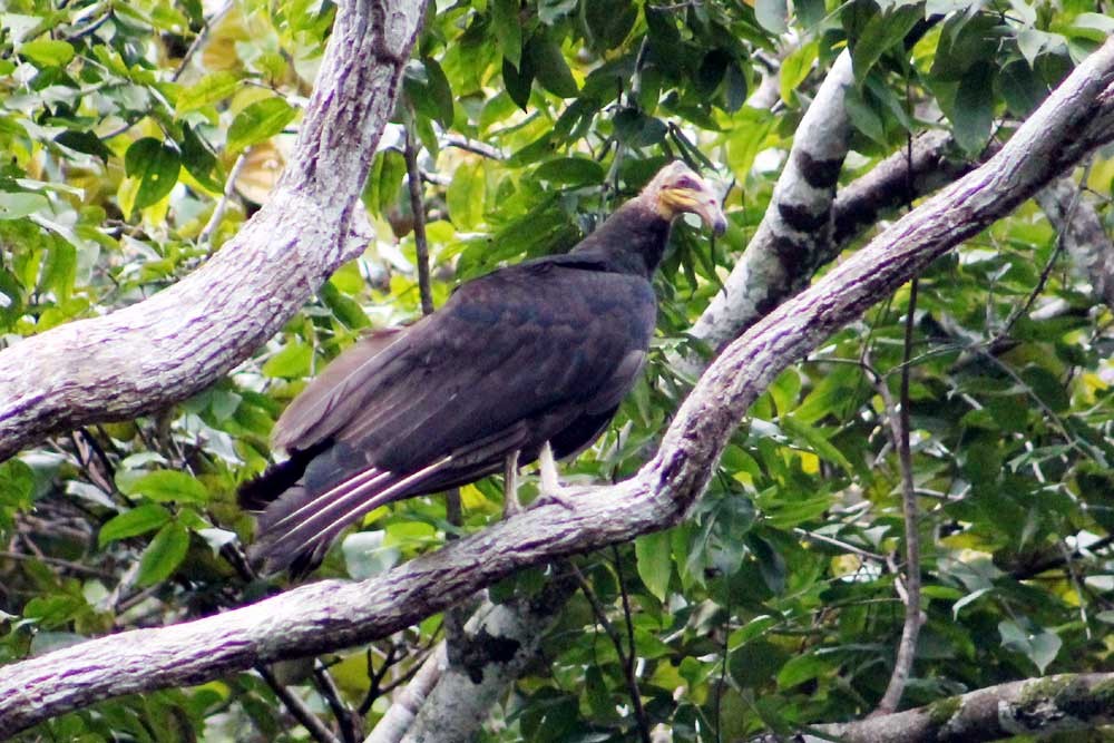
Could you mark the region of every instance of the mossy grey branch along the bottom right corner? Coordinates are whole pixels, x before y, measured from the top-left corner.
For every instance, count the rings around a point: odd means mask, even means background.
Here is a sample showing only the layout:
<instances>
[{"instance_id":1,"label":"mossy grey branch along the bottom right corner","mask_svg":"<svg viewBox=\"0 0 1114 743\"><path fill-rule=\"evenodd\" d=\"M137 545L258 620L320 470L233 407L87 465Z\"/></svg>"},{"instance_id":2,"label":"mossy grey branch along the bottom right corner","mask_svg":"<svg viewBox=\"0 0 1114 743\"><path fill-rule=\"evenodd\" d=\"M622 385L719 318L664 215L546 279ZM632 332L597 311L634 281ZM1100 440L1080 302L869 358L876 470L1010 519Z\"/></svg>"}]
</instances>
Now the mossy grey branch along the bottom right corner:
<instances>
[{"instance_id":1,"label":"mossy grey branch along the bottom right corner","mask_svg":"<svg viewBox=\"0 0 1114 743\"><path fill-rule=\"evenodd\" d=\"M1114 722L1114 674L1064 674L1013 682L952 696L924 707L837 725L792 743L983 743L1038 737ZM769 735L752 743L784 743Z\"/></svg>"}]
</instances>

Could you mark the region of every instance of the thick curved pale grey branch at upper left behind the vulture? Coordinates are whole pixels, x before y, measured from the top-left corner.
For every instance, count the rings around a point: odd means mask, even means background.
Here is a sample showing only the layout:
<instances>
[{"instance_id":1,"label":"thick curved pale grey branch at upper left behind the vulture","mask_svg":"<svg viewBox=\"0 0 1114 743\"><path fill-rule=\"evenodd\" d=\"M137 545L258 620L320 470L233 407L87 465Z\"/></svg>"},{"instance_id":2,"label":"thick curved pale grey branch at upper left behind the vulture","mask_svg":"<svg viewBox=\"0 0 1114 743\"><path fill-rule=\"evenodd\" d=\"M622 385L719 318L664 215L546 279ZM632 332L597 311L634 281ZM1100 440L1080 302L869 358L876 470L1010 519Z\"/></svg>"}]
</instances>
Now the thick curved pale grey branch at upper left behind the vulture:
<instances>
[{"instance_id":1,"label":"thick curved pale grey branch at upper left behind the vulture","mask_svg":"<svg viewBox=\"0 0 1114 743\"><path fill-rule=\"evenodd\" d=\"M371 235L354 214L423 0L341 3L271 201L199 270L153 297L0 352L0 461L55 432L131 419L247 359Z\"/></svg>"}]
</instances>

